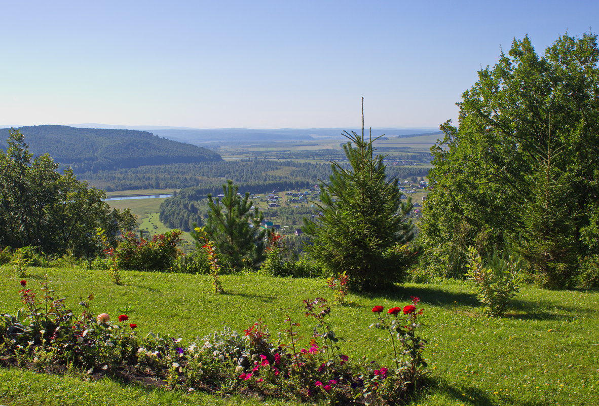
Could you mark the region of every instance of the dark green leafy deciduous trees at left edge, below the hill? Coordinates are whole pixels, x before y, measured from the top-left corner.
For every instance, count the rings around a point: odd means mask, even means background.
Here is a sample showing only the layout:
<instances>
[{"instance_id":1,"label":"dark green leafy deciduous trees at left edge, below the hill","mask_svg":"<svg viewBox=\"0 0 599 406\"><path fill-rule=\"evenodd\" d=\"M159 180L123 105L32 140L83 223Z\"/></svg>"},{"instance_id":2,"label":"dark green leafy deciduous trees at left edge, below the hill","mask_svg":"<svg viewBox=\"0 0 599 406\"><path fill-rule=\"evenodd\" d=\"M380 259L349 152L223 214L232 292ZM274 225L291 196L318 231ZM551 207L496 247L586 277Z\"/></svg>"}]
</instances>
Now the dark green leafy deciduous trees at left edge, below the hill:
<instances>
[{"instance_id":1,"label":"dark green leafy deciduous trees at left edge, below the hill","mask_svg":"<svg viewBox=\"0 0 599 406\"><path fill-rule=\"evenodd\" d=\"M135 224L129 211L110 210L105 193L77 181L71 170L56 172L48 154L32 157L25 137L11 131L6 152L0 151L1 246L92 256L99 252L96 227L114 240L120 226Z\"/></svg>"}]
</instances>

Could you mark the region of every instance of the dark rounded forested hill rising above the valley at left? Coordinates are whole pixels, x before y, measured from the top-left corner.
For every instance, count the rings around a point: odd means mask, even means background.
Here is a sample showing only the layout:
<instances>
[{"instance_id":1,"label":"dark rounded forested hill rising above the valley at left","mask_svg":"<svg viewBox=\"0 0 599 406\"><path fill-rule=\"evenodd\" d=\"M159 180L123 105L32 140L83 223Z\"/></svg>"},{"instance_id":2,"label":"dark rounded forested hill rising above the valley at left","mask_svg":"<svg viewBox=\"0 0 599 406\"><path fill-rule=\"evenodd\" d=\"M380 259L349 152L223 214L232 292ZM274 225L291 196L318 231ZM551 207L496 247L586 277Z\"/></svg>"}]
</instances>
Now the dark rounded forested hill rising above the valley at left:
<instances>
[{"instance_id":1,"label":"dark rounded forested hill rising above the valley at left","mask_svg":"<svg viewBox=\"0 0 599 406\"><path fill-rule=\"evenodd\" d=\"M167 140L146 131L74 128L42 125L18 128L34 156L49 153L62 167L75 173L96 172L141 165L214 162L216 152ZM5 149L8 128L0 129L0 148Z\"/></svg>"}]
</instances>

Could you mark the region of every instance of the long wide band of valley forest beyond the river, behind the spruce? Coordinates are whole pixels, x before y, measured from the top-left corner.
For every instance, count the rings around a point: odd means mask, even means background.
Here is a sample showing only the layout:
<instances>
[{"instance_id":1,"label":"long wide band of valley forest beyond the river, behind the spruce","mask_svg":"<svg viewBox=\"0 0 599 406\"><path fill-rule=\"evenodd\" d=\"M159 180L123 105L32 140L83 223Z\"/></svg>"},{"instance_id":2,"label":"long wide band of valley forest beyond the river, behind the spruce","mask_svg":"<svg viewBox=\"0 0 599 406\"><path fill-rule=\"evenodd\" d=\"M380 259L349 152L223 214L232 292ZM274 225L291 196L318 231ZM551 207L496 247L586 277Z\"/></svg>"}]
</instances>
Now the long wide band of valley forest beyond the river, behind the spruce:
<instances>
[{"instance_id":1,"label":"long wide band of valley forest beyond the river, behind the spruce","mask_svg":"<svg viewBox=\"0 0 599 406\"><path fill-rule=\"evenodd\" d=\"M428 168L418 166L388 166L391 177L408 179L424 177ZM328 163L310 163L274 160L242 160L171 165L147 165L116 171L86 172L78 178L92 186L113 192L132 189L183 189L184 187L222 184L226 179L234 183L273 182L283 180L327 180L331 175Z\"/></svg>"}]
</instances>

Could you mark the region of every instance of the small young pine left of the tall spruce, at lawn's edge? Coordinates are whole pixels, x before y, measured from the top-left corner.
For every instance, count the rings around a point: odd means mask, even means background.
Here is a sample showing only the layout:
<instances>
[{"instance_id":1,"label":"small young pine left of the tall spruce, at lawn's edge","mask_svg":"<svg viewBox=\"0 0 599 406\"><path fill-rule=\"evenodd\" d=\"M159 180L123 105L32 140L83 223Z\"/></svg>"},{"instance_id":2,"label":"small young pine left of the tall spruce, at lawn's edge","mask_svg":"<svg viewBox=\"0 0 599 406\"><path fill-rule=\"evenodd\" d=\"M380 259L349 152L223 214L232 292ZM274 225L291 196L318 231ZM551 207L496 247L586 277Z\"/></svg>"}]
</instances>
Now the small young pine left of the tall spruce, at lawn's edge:
<instances>
[{"instance_id":1,"label":"small young pine left of the tall spruce, at lawn's edge","mask_svg":"<svg viewBox=\"0 0 599 406\"><path fill-rule=\"evenodd\" d=\"M260 227L264 217L246 194L237 195L238 186L231 180L223 184L223 197L213 199L208 195L210 213L205 226L207 238L214 241L221 262L234 270L244 266L255 267L264 259L264 237L267 233ZM250 225L251 223L251 225ZM204 236L192 232L196 247L205 245Z\"/></svg>"}]
</instances>

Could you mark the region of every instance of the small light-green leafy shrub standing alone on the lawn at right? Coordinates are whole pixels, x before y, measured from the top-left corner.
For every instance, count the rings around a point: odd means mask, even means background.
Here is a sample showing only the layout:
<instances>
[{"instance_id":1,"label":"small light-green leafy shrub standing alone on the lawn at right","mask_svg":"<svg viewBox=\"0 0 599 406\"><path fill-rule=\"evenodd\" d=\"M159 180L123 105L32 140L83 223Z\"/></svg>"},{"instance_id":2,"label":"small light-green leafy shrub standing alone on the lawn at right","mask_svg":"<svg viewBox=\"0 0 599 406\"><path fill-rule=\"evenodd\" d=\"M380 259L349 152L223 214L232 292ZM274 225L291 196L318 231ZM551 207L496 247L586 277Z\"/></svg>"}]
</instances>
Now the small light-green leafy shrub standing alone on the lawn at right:
<instances>
[{"instance_id":1,"label":"small light-green leafy shrub standing alone on the lawn at right","mask_svg":"<svg viewBox=\"0 0 599 406\"><path fill-rule=\"evenodd\" d=\"M510 298L519 292L521 283L518 260L494 254L486 265L474 247L468 247L467 277L474 283L476 297L488 316L502 316Z\"/></svg>"}]
</instances>

